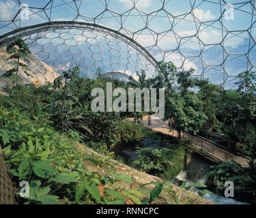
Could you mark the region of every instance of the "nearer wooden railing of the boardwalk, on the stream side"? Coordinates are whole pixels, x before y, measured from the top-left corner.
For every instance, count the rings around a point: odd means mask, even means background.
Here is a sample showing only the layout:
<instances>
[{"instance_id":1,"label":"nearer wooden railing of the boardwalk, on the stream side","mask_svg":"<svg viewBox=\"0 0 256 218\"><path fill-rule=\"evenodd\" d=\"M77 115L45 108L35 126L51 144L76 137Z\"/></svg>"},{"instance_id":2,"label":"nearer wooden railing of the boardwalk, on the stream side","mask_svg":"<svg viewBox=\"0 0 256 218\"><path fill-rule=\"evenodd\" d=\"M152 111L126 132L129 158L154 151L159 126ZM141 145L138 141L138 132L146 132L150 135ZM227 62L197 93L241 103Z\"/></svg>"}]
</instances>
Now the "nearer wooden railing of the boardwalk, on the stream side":
<instances>
[{"instance_id":1,"label":"nearer wooden railing of the boardwalk, on the stream side","mask_svg":"<svg viewBox=\"0 0 256 218\"><path fill-rule=\"evenodd\" d=\"M226 161L235 158L235 156L232 155L231 153L228 153L227 151L220 149L217 146L214 146L210 142L205 142L200 138L195 138L190 134L184 133L184 138L188 138L189 140L191 140L192 144L195 147L197 147L197 149L200 149L200 151L204 151L205 153L208 153L209 155L216 157L218 159Z\"/></svg>"}]
</instances>

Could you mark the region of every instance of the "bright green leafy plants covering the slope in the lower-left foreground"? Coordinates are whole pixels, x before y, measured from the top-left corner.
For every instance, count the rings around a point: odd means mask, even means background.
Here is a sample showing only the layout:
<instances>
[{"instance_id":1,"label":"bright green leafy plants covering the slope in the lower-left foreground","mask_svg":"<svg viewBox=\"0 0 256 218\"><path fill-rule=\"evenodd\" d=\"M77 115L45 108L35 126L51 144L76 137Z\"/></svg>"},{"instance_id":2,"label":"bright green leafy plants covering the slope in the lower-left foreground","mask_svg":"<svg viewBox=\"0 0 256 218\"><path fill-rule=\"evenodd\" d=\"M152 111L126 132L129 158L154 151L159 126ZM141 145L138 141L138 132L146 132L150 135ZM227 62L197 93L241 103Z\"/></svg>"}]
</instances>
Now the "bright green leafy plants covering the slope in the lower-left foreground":
<instances>
[{"instance_id":1,"label":"bright green leafy plants covering the slope in the lower-left foreground","mask_svg":"<svg viewBox=\"0 0 256 218\"><path fill-rule=\"evenodd\" d=\"M74 146L75 141L40 119L31 120L19 110L7 110L1 105L0 128L0 144L8 171L17 187L21 180L29 182L29 198L17 196L20 203L125 204L130 199L141 204L140 198L146 198L142 191L106 188L109 184L133 181L126 174L113 174L110 178L89 172L83 166L83 154ZM72 138L78 137L74 132L70 134Z\"/></svg>"}]
</instances>

